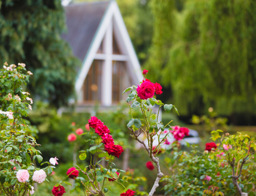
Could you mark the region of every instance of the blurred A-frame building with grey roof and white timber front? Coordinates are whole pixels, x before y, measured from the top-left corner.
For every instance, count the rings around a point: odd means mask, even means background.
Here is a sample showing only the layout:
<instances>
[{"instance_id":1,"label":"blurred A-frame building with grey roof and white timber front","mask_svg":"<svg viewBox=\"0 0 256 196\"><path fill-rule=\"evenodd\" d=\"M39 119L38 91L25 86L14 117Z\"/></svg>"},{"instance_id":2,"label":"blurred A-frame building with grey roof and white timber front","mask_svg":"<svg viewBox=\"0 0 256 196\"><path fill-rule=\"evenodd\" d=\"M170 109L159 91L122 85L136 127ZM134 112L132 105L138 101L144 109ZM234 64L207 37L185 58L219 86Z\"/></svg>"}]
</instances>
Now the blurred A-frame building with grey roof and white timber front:
<instances>
[{"instance_id":1,"label":"blurred A-frame building with grey roof and white timber front","mask_svg":"<svg viewBox=\"0 0 256 196\"><path fill-rule=\"evenodd\" d=\"M122 91L143 79L116 1L65 7L69 42L82 66L76 79L78 106L113 106L126 99Z\"/></svg>"}]
</instances>

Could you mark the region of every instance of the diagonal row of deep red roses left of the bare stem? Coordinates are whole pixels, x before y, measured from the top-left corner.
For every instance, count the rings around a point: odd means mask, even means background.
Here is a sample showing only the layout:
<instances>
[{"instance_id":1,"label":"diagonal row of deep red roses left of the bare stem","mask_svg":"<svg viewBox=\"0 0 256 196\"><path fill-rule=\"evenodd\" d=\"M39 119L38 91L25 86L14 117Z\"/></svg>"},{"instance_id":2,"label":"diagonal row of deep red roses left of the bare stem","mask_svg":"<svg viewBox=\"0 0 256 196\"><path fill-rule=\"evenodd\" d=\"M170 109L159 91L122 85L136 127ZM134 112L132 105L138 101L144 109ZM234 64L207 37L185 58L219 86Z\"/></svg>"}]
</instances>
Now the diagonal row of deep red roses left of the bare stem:
<instances>
[{"instance_id":1,"label":"diagonal row of deep red roses left of the bare stem","mask_svg":"<svg viewBox=\"0 0 256 196\"><path fill-rule=\"evenodd\" d=\"M110 135L110 131L107 128L107 126L104 125L99 119L96 117L91 117L88 120L89 127L92 129L95 129L95 133L101 136L102 142L105 145L104 150L107 151L109 155L114 155L117 158L121 155L121 153L124 151L123 147L120 145L115 145L114 140L112 138L112 135Z\"/></svg>"}]
</instances>

